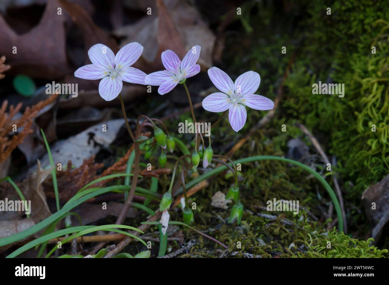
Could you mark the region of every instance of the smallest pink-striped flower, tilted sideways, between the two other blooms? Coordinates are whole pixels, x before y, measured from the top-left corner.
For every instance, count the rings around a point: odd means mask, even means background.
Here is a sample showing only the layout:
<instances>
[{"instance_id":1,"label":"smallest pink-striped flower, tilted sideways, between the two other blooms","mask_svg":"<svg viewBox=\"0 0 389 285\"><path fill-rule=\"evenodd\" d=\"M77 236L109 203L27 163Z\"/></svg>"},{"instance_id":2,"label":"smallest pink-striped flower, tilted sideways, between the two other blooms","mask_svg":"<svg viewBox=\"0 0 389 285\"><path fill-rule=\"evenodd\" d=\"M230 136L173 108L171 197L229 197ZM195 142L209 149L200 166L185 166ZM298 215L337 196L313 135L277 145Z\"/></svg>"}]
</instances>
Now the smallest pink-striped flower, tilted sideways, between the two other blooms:
<instances>
[{"instance_id":1,"label":"smallest pink-striped flower, tilted sideways, between the two other blooms","mask_svg":"<svg viewBox=\"0 0 389 285\"><path fill-rule=\"evenodd\" d=\"M184 83L188 77L200 72L200 65L196 64L200 56L200 46L194 46L184 56L182 61L170 49L161 54L163 66L166 70L150 73L145 78L145 84L158 86L158 93L163 95L170 92L177 84Z\"/></svg>"}]
</instances>

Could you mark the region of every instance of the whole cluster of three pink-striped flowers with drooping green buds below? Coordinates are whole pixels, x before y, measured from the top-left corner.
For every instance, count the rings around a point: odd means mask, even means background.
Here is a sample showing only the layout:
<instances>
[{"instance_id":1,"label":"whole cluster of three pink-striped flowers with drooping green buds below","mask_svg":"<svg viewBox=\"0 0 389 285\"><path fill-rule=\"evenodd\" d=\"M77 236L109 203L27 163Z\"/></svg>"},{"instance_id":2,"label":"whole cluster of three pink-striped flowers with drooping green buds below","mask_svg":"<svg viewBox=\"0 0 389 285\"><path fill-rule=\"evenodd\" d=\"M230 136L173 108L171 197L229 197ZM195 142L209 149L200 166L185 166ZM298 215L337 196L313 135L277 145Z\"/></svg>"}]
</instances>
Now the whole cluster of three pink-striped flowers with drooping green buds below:
<instances>
[{"instance_id":1,"label":"whole cluster of three pink-striped flowers with drooping green buds below","mask_svg":"<svg viewBox=\"0 0 389 285\"><path fill-rule=\"evenodd\" d=\"M173 51L164 51L161 54L161 60L165 70L152 72L148 75L139 69L131 67L131 65L133 65L138 60L140 55L142 55L142 51L143 46L137 42L131 42L130 44L127 44L121 48L117 54L114 55L112 50L107 46L103 44L96 44L88 51L88 56L92 64L80 67L74 72L74 76L89 80L101 79L99 84L99 93L100 96L107 101L113 100L119 96L123 87L123 81L129 83L159 86L158 93L161 95L172 91L173 88L177 86L177 84L183 84L191 106L193 121L196 121L189 91L186 87L185 81L187 78L195 76L200 72L200 65L197 64L197 61L200 56L201 47L193 46L193 48L191 48L184 56L182 61ZM274 103L272 100L255 94L259 88L259 84L261 83L261 77L257 72L245 72L244 74L238 76L238 78L235 80L235 83L232 81L230 76L217 67L211 67L208 70L208 75L212 83L220 92L208 95L202 102L203 108L210 112L223 112L222 116L228 111L230 125L235 132L241 130L245 125L247 119L246 106L255 110L273 109ZM154 121L162 123L161 121L150 119L147 116L144 117L149 121L149 125L154 127L154 137L150 139L145 137L134 142L145 142L143 146L145 150L145 159L148 159L159 145L161 147L159 164L163 167L163 165L166 163L165 150L167 148L168 151L173 152L175 141L168 133L166 137L165 132L161 128L158 128L154 123ZM217 122L219 122L219 120ZM165 130L167 132L166 127ZM199 136L202 141L201 149L200 142L198 142L200 141ZM196 133L195 139L193 140L193 146L195 150L193 151L192 155L184 155L183 157L180 157L179 160L181 158L187 159L189 156L191 157L193 166L197 167L201 159L203 161L203 167L206 168L214 157L210 137L209 146L205 148L202 135ZM220 155L215 156L221 157ZM176 165L179 160L177 160ZM231 160L230 163L233 164ZM235 167L234 164L233 166ZM170 188L163 195L159 205L159 210L163 213L160 220L163 234L166 232L170 217L168 214L168 209L172 203L171 191L175 170L176 167L173 171ZM184 184L184 180L182 182ZM237 184L237 170L235 168L235 187L231 187L226 196L226 199L233 199L235 202L228 222L232 222L233 220L237 219L239 224L243 214L243 205L239 201L239 188ZM193 221L193 212L188 206L189 204L187 201L184 185L183 188L185 199L182 199L181 201L182 212L184 222L189 224Z\"/></svg>"}]
</instances>

